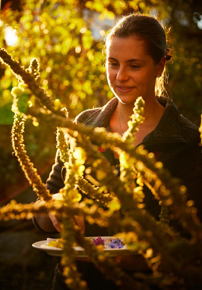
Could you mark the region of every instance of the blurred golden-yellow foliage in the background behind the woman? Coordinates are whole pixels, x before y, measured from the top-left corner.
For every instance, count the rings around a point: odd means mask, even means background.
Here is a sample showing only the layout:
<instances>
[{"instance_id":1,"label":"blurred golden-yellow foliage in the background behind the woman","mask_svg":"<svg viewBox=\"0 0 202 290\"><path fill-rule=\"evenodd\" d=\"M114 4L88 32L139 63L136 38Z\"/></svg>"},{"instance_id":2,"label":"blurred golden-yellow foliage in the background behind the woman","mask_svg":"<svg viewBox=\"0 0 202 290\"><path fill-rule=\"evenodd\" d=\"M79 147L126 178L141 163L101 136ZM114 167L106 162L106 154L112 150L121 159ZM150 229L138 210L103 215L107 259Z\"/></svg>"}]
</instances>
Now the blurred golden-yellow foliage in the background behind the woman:
<instances>
[{"instance_id":1,"label":"blurred golden-yellow foliage in the background behind the woman","mask_svg":"<svg viewBox=\"0 0 202 290\"><path fill-rule=\"evenodd\" d=\"M180 112L199 125L201 112L201 5L200 1L123 1L123 0L23 0L19 10L4 9L0 14L0 46L19 60L25 68L36 57L40 62L43 86L54 100L54 110L67 107L69 117L82 110L102 106L113 97L103 68L101 36L118 16L133 11L156 14L164 25L172 26L173 59L168 65L167 92ZM110 23L110 24L109 24ZM95 32L97 29L97 35ZM1 135L9 132L14 113L11 111L13 86L18 84L9 68L1 64L0 122ZM27 104L24 95L21 110L35 106L35 97ZM20 104L19 104L20 106ZM34 123L38 125L38 122ZM32 161L40 172L53 163L56 128L27 122L25 143ZM1 176L9 196L10 184L22 184L23 174L11 156L10 134L3 136ZM9 162L8 162L9 160ZM43 160L43 161L42 161ZM46 164L46 166L44 165ZM19 173L16 173L19 171ZM14 174L15 172L15 174ZM5 178L6 174L6 178ZM19 175L22 177L19 178ZM12 176L12 182L10 180ZM3 197L2 197L3 198Z\"/></svg>"}]
</instances>

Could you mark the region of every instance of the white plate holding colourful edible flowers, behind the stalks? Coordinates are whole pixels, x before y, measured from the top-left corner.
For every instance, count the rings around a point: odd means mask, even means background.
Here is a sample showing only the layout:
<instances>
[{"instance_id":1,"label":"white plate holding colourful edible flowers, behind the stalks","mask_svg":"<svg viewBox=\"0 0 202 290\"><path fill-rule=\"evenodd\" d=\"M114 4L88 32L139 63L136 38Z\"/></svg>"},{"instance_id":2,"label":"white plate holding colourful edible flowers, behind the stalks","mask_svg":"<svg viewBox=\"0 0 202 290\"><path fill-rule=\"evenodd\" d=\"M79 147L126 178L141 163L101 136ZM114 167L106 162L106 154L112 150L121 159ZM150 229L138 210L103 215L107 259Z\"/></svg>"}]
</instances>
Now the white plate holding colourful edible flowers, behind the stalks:
<instances>
[{"instance_id":1,"label":"white plate holding colourful edible flowers, behind the stalks","mask_svg":"<svg viewBox=\"0 0 202 290\"><path fill-rule=\"evenodd\" d=\"M86 239L96 239L98 237L86 237ZM117 237L101 237L104 239L105 243L110 243L110 239L113 240ZM47 241L39 241L34 244L32 244L32 247L47 252L51 256L62 256L63 255L63 249L56 248L56 247L47 247L46 246ZM77 258L87 258L88 255L86 254L85 250L82 247L73 247L75 251L75 257ZM119 255L134 255L137 254L137 250L134 248L128 248L126 245L124 245L121 249L111 249L108 248L108 245L105 245L104 252L107 253L110 257L115 257Z\"/></svg>"}]
</instances>

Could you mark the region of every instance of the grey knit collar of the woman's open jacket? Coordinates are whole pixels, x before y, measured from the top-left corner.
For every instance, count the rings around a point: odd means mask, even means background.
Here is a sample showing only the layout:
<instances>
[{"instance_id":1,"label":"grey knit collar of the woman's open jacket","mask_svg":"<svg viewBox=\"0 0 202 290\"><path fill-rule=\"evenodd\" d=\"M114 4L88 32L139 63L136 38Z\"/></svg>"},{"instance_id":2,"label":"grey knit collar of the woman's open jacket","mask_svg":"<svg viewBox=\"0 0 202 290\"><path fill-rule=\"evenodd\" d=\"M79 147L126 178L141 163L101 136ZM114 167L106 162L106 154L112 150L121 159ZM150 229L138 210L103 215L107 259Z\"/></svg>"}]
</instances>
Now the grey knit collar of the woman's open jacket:
<instances>
[{"instance_id":1,"label":"grey knit collar of the woman's open jacket","mask_svg":"<svg viewBox=\"0 0 202 290\"><path fill-rule=\"evenodd\" d=\"M165 107L164 114L162 115L157 127L148 134L148 137L169 137L176 138L182 137L179 126L179 110L175 104L168 97L157 97L159 104ZM89 119L86 120L86 125L94 127L105 127L107 131L110 131L110 118L115 108L117 107L118 99L114 97L106 105L99 110L96 110Z\"/></svg>"}]
</instances>

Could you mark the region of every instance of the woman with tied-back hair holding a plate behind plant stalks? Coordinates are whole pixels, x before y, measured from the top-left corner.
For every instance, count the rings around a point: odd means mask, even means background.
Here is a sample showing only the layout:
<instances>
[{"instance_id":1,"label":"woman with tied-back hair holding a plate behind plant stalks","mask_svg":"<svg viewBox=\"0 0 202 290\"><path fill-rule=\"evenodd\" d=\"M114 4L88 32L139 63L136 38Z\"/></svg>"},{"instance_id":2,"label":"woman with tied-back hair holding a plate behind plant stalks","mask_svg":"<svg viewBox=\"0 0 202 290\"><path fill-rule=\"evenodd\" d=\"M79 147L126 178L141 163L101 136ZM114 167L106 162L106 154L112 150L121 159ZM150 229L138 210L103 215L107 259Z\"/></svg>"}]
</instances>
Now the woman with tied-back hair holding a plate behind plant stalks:
<instances>
[{"instance_id":1,"label":"woman with tied-back hair holding a plate behind plant stalks","mask_svg":"<svg viewBox=\"0 0 202 290\"><path fill-rule=\"evenodd\" d=\"M107 80L115 98L102 108L80 113L75 122L105 127L107 131L123 135L128 129L127 122L133 113L135 100L142 96L145 101L145 121L139 125L135 146L144 144L171 171L172 176L180 177L188 187L189 199L194 200L198 210L201 210L202 157L198 147L198 127L181 116L169 98L161 97L165 64L171 59L164 29L154 17L130 14L120 19L107 33L104 44ZM105 150L103 154L111 164L118 164L116 153L113 156L110 150ZM57 154L56 163L47 180L47 188L51 193L57 193L64 186L61 178L62 166ZM158 202L147 188L144 193L146 209L158 219ZM82 220L77 222L85 229L86 236L105 235L96 226L84 224ZM61 232L60 224L52 215L50 219L37 216L34 223L38 229L49 234L54 233L55 229ZM173 225L178 229L176 223ZM123 258L121 266L135 270L132 258ZM142 267L144 269L144 265ZM57 278L54 281L56 280ZM62 289L57 287L53 289Z\"/></svg>"}]
</instances>

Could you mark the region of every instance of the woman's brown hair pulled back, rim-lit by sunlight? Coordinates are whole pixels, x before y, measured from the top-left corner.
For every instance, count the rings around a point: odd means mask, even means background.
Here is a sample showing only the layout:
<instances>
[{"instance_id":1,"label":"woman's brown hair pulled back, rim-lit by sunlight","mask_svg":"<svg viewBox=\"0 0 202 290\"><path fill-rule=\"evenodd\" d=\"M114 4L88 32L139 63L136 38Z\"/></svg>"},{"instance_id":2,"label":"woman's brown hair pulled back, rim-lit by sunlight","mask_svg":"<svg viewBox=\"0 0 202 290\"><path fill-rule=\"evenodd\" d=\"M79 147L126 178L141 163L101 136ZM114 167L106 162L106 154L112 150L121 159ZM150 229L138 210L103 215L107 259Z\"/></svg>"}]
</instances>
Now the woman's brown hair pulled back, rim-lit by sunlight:
<instances>
[{"instance_id":1,"label":"woman's brown hair pulled back, rim-lit by sunlight","mask_svg":"<svg viewBox=\"0 0 202 290\"><path fill-rule=\"evenodd\" d=\"M168 29L168 32L170 28ZM167 33L168 33L167 32ZM166 61L172 57L171 49L167 45L166 34L163 24L156 18L148 14L133 13L119 19L103 37L103 54L106 58L106 46L113 37L130 37L135 35L146 41L147 53L153 58L155 64L158 64L162 57L166 56ZM156 79L156 95L162 95L164 89L164 75L166 79L165 68L161 77Z\"/></svg>"}]
</instances>

